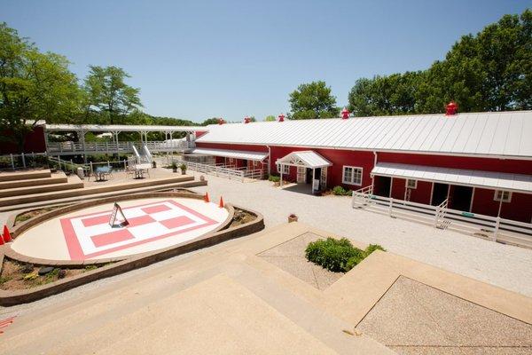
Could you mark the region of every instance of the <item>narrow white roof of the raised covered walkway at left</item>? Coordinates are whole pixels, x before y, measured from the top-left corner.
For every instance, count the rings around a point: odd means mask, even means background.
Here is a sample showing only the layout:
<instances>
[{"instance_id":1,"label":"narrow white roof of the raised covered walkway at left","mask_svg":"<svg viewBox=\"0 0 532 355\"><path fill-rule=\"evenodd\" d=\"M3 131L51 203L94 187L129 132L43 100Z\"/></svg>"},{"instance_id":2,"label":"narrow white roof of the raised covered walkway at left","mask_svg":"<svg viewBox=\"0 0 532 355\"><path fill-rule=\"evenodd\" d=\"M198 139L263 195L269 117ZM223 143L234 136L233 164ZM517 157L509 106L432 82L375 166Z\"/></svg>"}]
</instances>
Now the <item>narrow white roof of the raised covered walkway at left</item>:
<instances>
[{"instance_id":1,"label":"narrow white roof of the raised covered walkway at left","mask_svg":"<svg viewBox=\"0 0 532 355\"><path fill-rule=\"evenodd\" d=\"M205 126L149 126L129 124L46 124L46 130L86 132L194 132L207 131Z\"/></svg>"}]
</instances>

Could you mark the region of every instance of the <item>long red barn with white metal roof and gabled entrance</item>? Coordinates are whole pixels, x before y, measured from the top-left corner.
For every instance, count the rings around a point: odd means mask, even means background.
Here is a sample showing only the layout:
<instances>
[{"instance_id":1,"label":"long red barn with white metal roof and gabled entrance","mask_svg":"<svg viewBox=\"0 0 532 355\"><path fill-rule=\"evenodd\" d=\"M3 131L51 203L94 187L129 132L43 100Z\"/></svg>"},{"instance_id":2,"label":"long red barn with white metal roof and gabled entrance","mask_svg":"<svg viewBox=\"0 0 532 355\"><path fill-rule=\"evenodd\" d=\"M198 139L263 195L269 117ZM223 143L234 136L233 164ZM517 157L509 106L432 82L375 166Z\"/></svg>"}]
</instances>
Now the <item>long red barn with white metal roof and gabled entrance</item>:
<instances>
[{"instance_id":1,"label":"long red barn with white metal roof and gabled entrance","mask_svg":"<svg viewBox=\"0 0 532 355\"><path fill-rule=\"evenodd\" d=\"M532 111L210 125L193 154L451 209L532 220Z\"/></svg>"}]
</instances>

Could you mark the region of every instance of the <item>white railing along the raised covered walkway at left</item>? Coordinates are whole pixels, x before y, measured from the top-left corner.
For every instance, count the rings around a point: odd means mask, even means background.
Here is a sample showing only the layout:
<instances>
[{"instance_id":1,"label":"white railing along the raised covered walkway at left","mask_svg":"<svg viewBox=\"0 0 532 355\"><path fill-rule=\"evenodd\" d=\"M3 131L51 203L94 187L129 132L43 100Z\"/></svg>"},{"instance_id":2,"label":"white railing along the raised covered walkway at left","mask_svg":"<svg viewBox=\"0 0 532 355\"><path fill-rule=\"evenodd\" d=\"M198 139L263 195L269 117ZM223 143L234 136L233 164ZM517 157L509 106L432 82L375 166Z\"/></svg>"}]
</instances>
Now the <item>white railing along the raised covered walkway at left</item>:
<instances>
[{"instance_id":1,"label":"white railing along the raised covered walkway at left","mask_svg":"<svg viewBox=\"0 0 532 355\"><path fill-rule=\"evenodd\" d=\"M46 150L49 154L73 153L129 153L138 142L48 142ZM193 148L194 142L186 141L152 141L145 142L151 152L174 152Z\"/></svg>"}]
</instances>

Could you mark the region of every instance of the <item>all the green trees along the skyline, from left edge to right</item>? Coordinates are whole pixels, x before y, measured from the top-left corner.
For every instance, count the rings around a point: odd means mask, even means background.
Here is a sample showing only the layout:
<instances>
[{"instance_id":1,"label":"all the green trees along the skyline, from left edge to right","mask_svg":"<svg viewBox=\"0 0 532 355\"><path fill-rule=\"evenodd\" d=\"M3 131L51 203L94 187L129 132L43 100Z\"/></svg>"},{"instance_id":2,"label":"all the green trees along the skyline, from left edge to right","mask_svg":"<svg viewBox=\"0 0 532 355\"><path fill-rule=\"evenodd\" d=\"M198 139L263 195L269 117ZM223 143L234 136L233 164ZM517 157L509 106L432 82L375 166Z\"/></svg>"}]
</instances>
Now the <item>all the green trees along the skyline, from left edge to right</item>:
<instances>
[{"instance_id":1,"label":"all the green trees along the skyline, from left edge to right","mask_svg":"<svg viewBox=\"0 0 532 355\"><path fill-rule=\"evenodd\" d=\"M80 80L66 57L43 52L0 23L0 135L23 146L40 120L51 123L215 124L157 117L142 111L140 90L120 67L90 66ZM532 109L532 11L505 15L476 35L462 36L445 59L426 70L356 80L348 109L356 116L441 113L454 100L461 112ZM323 81L289 94L290 119L338 117ZM251 122L254 116L249 117ZM269 115L264 121L275 121Z\"/></svg>"}]
</instances>

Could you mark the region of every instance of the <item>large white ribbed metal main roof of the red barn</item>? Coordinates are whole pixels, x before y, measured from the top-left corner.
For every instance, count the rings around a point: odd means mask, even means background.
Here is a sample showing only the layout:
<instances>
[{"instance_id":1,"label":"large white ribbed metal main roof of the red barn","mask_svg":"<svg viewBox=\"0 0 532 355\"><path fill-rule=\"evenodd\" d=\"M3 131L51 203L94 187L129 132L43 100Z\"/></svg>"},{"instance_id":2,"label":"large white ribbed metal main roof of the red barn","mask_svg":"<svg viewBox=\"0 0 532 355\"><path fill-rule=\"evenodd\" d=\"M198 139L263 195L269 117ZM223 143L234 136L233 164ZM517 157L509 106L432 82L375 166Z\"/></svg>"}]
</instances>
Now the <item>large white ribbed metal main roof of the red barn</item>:
<instances>
[{"instance_id":1,"label":"large white ribbed metal main roof of the red barn","mask_svg":"<svg viewBox=\"0 0 532 355\"><path fill-rule=\"evenodd\" d=\"M198 142L532 158L532 111L207 126Z\"/></svg>"}]
</instances>

